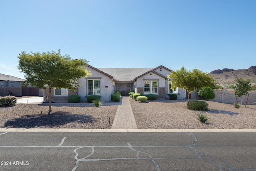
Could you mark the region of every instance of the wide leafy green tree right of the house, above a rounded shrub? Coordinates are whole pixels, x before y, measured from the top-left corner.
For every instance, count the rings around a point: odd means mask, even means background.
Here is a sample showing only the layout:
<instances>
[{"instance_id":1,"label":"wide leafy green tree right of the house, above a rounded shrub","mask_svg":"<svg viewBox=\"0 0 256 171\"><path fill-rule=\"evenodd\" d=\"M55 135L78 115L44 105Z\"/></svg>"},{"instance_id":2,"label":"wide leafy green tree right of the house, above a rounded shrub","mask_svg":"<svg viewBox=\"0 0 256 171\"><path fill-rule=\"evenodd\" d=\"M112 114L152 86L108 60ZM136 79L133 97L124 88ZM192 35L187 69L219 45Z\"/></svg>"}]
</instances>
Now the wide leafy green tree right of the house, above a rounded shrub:
<instances>
[{"instance_id":1,"label":"wide leafy green tree right of the house, above a rounded shrub","mask_svg":"<svg viewBox=\"0 0 256 171\"><path fill-rule=\"evenodd\" d=\"M188 93L196 89L201 89L202 87L215 85L215 80L211 76L208 76L205 72L198 69L193 69L192 72L190 72L182 67L180 70L172 71L167 77L171 80L172 90L176 89L176 87L180 87L187 89Z\"/></svg>"}]
</instances>

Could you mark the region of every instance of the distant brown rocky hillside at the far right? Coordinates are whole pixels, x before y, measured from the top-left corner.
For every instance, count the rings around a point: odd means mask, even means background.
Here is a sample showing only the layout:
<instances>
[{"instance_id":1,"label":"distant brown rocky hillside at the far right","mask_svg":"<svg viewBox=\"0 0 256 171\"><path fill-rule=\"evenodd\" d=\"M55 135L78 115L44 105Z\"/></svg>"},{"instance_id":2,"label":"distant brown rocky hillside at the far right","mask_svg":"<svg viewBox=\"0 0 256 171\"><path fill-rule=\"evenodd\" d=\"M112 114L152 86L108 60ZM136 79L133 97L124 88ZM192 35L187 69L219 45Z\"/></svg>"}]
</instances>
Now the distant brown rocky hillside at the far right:
<instances>
[{"instance_id":1,"label":"distant brown rocky hillside at the far right","mask_svg":"<svg viewBox=\"0 0 256 171\"><path fill-rule=\"evenodd\" d=\"M256 66L251 66L244 70L224 68L223 70L214 70L208 75L212 76L218 84L231 85L236 80L236 77L240 77L245 80L251 79L253 83L256 83Z\"/></svg>"}]
</instances>

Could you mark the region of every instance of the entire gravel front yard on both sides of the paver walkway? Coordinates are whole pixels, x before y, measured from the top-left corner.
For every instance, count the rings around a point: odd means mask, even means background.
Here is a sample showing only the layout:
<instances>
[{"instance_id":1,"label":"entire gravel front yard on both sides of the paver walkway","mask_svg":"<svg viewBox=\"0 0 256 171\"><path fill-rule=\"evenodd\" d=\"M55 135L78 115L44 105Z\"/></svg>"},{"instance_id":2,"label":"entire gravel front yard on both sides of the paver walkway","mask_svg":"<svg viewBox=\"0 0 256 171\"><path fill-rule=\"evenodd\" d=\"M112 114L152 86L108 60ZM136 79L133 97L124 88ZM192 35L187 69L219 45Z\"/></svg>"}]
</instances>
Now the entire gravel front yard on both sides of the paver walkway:
<instances>
[{"instance_id":1,"label":"entire gravel front yard on both sides of the paver walkway","mask_svg":"<svg viewBox=\"0 0 256 171\"><path fill-rule=\"evenodd\" d=\"M187 109L187 99L140 103L130 99L138 129L256 128L256 104L236 109L232 104L206 101L210 120L201 123L198 111ZM112 126L119 103L16 104L0 107L0 128L100 128ZM42 113L41 113L42 111ZM109 119L110 118L110 119Z\"/></svg>"}]
</instances>

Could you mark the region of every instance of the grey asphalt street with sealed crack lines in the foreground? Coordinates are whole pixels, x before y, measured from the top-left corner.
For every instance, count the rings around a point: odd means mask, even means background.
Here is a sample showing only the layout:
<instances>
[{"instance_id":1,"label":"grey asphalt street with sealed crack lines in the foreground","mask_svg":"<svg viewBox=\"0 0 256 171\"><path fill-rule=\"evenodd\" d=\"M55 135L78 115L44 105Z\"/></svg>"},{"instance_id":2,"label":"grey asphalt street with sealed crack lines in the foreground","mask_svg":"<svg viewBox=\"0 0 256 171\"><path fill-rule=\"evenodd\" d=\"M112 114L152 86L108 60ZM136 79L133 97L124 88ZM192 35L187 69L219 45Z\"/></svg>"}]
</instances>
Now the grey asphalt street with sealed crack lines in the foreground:
<instances>
[{"instance_id":1,"label":"grey asphalt street with sealed crack lines in the foreground","mask_svg":"<svg viewBox=\"0 0 256 171\"><path fill-rule=\"evenodd\" d=\"M256 171L256 132L0 132L1 171Z\"/></svg>"}]
</instances>

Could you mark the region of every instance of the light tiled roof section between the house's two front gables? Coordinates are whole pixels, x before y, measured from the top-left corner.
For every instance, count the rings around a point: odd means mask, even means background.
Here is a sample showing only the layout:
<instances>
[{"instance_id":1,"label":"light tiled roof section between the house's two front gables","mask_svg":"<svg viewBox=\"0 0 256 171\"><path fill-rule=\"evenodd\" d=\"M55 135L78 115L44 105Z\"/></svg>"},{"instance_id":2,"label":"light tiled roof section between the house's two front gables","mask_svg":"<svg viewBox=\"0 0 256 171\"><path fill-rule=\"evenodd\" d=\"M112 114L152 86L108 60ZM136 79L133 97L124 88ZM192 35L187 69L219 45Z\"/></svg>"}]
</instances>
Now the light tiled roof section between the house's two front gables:
<instances>
[{"instance_id":1,"label":"light tiled roof section between the house's two front gables","mask_svg":"<svg viewBox=\"0 0 256 171\"><path fill-rule=\"evenodd\" d=\"M98 70L113 76L118 82L130 82L154 68L98 68Z\"/></svg>"}]
</instances>

